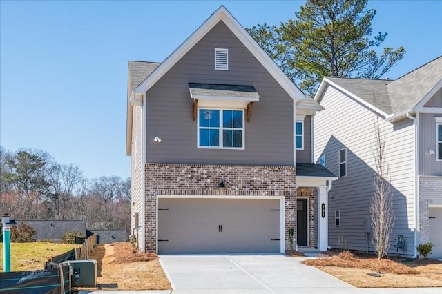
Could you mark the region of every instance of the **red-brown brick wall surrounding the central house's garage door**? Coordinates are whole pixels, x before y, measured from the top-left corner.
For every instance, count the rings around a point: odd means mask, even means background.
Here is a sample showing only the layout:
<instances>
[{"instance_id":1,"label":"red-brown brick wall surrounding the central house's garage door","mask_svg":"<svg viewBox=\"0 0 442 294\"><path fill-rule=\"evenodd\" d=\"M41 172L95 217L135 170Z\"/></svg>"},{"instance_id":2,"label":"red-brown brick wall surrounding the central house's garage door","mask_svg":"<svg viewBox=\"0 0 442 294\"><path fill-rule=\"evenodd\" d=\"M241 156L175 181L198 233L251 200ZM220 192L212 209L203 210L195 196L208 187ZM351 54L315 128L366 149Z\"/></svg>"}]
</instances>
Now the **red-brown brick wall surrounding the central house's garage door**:
<instances>
[{"instance_id":1,"label":"red-brown brick wall surrounding the central house's garage door","mask_svg":"<svg viewBox=\"0 0 442 294\"><path fill-rule=\"evenodd\" d=\"M296 169L294 166L222 166L199 164L145 164L146 238L144 250L156 252L157 195L176 196L283 196L285 248L287 231L295 228ZM223 180L225 188L218 188Z\"/></svg>"}]
</instances>

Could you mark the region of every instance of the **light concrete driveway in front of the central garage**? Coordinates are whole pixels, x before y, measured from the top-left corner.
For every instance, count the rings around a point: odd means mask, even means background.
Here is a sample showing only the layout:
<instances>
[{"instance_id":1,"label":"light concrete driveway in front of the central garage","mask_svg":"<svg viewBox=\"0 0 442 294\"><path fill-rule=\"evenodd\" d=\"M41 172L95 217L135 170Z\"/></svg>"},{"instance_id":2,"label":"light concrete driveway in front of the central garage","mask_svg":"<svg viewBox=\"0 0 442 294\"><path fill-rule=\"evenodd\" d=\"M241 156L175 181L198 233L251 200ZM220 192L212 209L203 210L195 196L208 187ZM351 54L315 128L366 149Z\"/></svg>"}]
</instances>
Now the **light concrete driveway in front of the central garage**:
<instances>
[{"instance_id":1,"label":"light concrete driveway in front of the central garage","mask_svg":"<svg viewBox=\"0 0 442 294\"><path fill-rule=\"evenodd\" d=\"M285 255L161 255L173 293L354 293L354 287Z\"/></svg>"}]
</instances>

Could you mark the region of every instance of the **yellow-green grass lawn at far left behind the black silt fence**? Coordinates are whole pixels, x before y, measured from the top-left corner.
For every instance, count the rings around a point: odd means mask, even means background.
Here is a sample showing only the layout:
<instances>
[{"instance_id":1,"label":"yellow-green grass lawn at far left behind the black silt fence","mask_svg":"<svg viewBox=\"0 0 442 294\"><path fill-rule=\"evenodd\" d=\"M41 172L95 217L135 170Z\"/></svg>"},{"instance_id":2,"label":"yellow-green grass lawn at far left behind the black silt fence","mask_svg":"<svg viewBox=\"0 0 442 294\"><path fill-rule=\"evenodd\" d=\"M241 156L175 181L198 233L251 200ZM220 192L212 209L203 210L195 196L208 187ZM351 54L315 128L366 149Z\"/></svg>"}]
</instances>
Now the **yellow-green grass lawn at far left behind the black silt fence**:
<instances>
[{"instance_id":1,"label":"yellow-green grass lawn at far left behind the black silt fence","mask_svg":"<svg viewBox=\"0 0 442 294\"><path fill-rule=\"evenodd\" d=\"M11 243L11 271L43 269L49 257L81 245L46 242ZM0 272L3 272L3 243L0 243Z\"/></svg>"}]
</instances>

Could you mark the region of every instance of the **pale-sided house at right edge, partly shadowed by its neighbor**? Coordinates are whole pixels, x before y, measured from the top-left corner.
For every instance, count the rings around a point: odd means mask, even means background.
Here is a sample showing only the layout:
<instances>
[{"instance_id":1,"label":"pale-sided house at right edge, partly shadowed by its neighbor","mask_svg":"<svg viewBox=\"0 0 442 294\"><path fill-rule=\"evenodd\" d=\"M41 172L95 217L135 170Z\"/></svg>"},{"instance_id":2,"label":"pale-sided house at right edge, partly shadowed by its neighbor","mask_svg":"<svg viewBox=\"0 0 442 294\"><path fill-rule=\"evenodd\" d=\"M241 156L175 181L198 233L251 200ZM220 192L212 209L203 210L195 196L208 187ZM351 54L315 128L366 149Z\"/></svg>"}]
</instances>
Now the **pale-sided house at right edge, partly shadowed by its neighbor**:
<instances>
[{"instance_id":1,"label":"pale-sided house at right edge, partly shadowed by its neighbor","mask_svg":"<svg viewBox=\"0 0 442 294\"><path fill-rule=\"evenodd\" d=\"M374 251L369 206L374 178L374 127L385 134L394 199L395 239L405 248L432 242L442 257L442 57L396 81L325 77L315 100L315 159L339 176L329 197L329 244Z\"/></svg>"}]
</instances>

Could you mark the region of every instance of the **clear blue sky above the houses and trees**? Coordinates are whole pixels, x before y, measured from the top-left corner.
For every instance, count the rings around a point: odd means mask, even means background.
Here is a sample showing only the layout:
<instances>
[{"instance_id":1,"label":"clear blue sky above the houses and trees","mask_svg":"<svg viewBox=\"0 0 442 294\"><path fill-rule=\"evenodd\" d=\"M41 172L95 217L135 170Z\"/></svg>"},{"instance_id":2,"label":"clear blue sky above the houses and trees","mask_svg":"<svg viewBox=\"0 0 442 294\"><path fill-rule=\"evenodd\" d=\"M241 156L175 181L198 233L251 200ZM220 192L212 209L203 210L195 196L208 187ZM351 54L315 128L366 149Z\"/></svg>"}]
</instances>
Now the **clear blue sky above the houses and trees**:
<instances>
[{"instance_id":1,"label":"clear blue sky above the houses and trees","mask_svg":"<svg viewBox=\"0 0 442 294\"><path fill-rule=\"evenodd\" d=\"M0 0L0 145L37 148L89 178L130 176L127 62L163 61L220 5L248 28L304 1ZM370 1L383 46L404 46L396 79L442 55L442 1Z\"/></svg>"}]
</instances>

